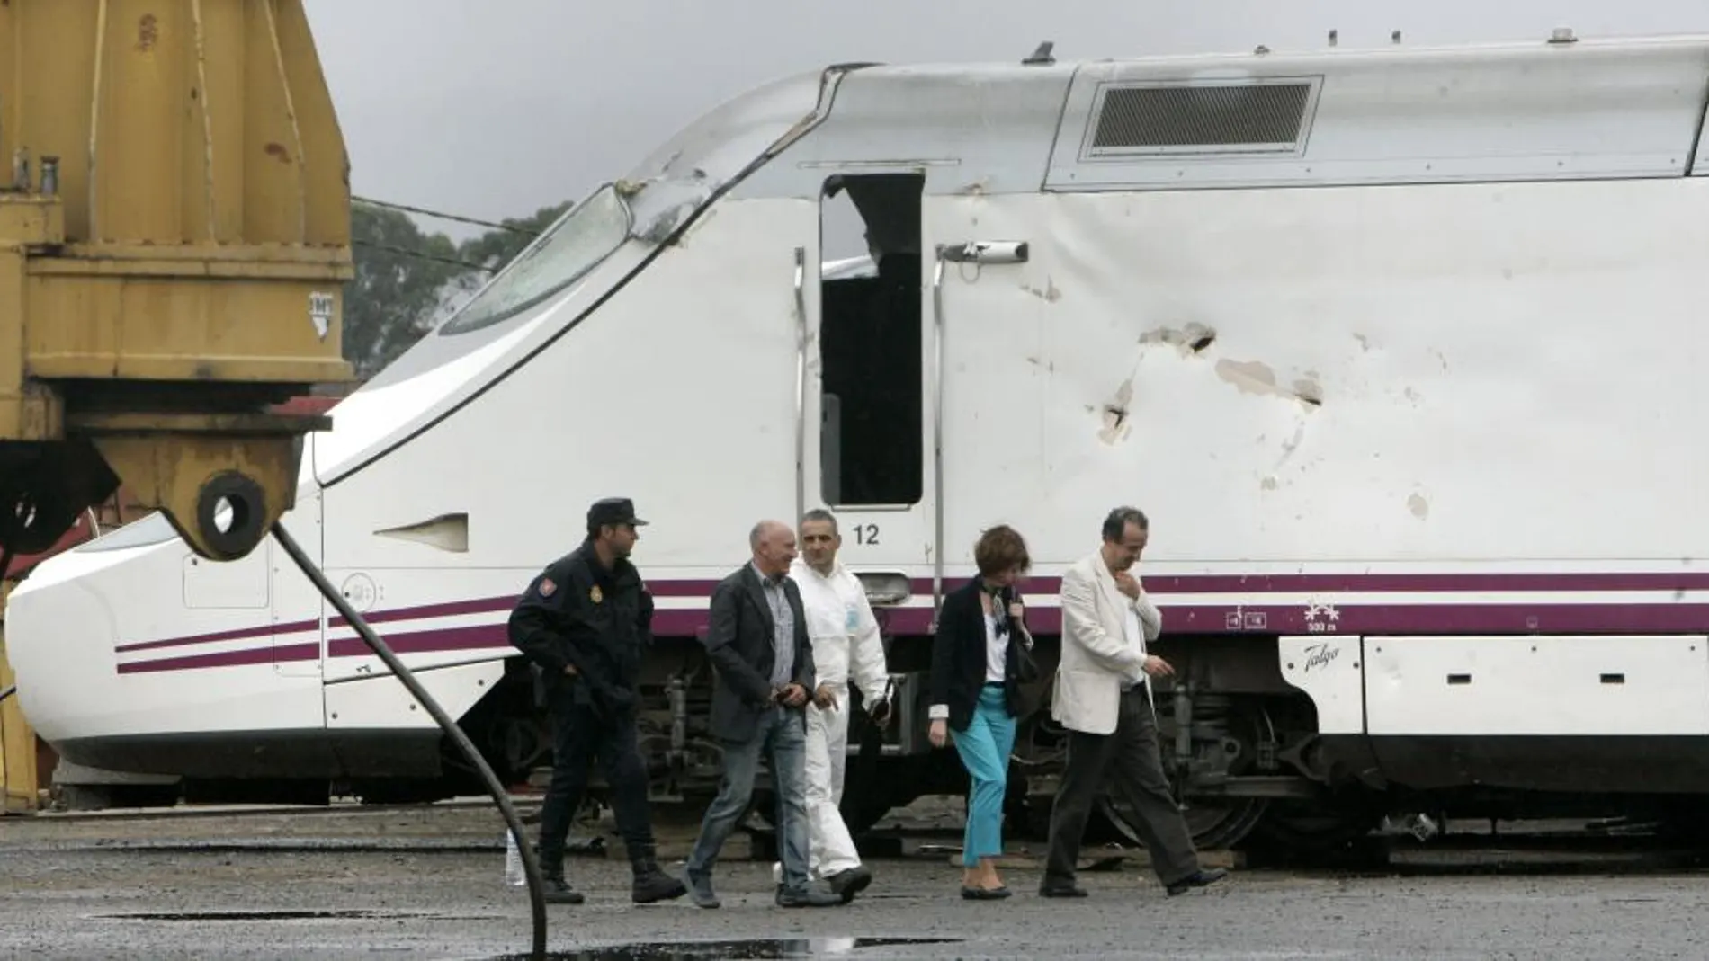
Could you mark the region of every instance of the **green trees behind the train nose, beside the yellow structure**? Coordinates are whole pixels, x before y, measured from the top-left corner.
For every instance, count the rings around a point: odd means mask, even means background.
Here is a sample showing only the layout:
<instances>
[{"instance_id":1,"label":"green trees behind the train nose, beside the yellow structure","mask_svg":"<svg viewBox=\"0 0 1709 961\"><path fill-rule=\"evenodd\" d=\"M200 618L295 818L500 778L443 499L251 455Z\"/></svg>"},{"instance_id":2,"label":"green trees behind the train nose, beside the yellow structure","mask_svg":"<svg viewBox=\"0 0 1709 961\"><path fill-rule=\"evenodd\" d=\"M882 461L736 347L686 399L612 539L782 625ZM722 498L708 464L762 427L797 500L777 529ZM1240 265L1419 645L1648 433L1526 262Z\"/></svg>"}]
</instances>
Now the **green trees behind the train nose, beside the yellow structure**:
<instances>
[{"instance_id":1,"label":"green trees behind the train nose, beside the yellow structure","mask_svg":"<svg viewBox=\"0 0 1709 961\"><path fill-rule=\"evenodd\" d=\"M531 217L461 244L427 234L402 210L350 205L355 278L344 295L344 357L361 379L373 377L427 331L456 312L571 201L542 207Z\"/></svg>"}]
</instances>

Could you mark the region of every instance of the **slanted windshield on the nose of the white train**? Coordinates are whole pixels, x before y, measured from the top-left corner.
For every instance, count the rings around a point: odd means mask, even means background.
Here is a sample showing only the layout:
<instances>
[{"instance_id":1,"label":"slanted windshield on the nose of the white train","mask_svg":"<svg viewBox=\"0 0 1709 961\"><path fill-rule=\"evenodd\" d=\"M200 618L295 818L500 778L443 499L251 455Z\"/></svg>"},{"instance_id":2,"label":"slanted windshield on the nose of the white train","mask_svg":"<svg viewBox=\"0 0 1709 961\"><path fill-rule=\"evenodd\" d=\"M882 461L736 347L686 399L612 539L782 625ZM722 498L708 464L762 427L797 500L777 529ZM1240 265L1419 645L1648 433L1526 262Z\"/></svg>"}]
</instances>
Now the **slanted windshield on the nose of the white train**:
<instances>
[{"instance_id":1,"label":"slanted windshield on the nose of the white train","mask_svg":"<svg viewBox=\"0 0 1709 961\"><path fill-rule=\"evenodd\" d=\"M518 254L439 333L477 331L533 307L608 258L629 236L631 224L629 205L615 186L605 184Z\"/></svg>"}]
</instances>

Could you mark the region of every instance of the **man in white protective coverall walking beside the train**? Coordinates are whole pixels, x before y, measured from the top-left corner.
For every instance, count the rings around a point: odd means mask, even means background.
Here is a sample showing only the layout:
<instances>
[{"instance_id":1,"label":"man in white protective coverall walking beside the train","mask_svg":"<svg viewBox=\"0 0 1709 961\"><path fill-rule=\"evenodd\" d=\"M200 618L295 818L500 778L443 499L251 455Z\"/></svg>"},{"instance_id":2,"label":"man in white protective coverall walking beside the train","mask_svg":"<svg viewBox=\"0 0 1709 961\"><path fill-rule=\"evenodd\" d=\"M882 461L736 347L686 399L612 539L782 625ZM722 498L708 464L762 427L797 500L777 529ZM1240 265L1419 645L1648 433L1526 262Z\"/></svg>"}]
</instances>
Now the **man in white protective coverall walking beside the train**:
<instances>
[{"instance_id":1,"label":"man in white protective coverall walking beside the train","mask_svg":"<svg viewBox=\"0 0 1709 961\"><path fill-rule=\"evenodd\" d=\"M802 515L800 543L802 556L790 567L790 579L802 589L819 683L807 708L808 876L822 879L846 903L872 884L872 872L860 862L837 811L848 760L849 681L860 686L866 713L882 727L890 720L890 674L866 589L837 562L843 546L837 519L829 510L808 510ZM781 865L772 865L772 874L779 872Z\"/></svg>"}]
</instances>

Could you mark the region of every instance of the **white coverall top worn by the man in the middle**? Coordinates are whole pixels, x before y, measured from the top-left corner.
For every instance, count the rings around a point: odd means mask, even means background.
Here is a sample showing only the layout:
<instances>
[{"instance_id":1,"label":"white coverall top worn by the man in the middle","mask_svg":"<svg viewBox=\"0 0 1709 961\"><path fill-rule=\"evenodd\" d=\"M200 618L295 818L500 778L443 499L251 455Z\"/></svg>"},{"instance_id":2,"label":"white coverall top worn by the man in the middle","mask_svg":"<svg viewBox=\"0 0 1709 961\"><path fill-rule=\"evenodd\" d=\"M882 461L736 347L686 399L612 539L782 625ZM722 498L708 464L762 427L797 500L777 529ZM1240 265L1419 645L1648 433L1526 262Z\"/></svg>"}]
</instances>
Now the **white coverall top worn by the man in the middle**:
<instances>
[{"instance_id":1,"label":"white coverall top worn by the man in the middle","mask_svg":"<svg viewBox=\"0 0 1709 961\"><path fill-rule=\"evenodd\" d=\"M841 562L825 575L803 558L790 565L790 577L802 589L817 683L843 688L853 676L866 703L884 696L890 678L884 664L884 640L860 579Z\"/></svg>"}]
</instances>

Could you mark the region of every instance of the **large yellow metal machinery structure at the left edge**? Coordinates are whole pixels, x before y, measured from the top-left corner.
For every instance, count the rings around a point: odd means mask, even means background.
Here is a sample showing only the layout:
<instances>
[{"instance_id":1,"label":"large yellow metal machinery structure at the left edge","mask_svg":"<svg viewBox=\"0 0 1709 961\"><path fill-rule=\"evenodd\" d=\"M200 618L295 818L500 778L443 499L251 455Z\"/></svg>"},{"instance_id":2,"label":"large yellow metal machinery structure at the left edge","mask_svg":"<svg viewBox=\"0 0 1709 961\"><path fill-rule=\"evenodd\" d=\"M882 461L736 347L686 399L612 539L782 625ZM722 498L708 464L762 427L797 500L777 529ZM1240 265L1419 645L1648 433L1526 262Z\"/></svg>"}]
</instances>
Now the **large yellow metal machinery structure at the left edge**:
<instances>
[{"instance_id":1,"label":"large yellow metal machinery structure at the left edge","mask_svg":"<svg viewBox=\"0 0 1709 961\"><path fill-rule=\"evenodd\" d=\"M208 558L350 379L344 137L301 0L0 2L0 548L123 483Z\"/></svg>"}]
</instances>

